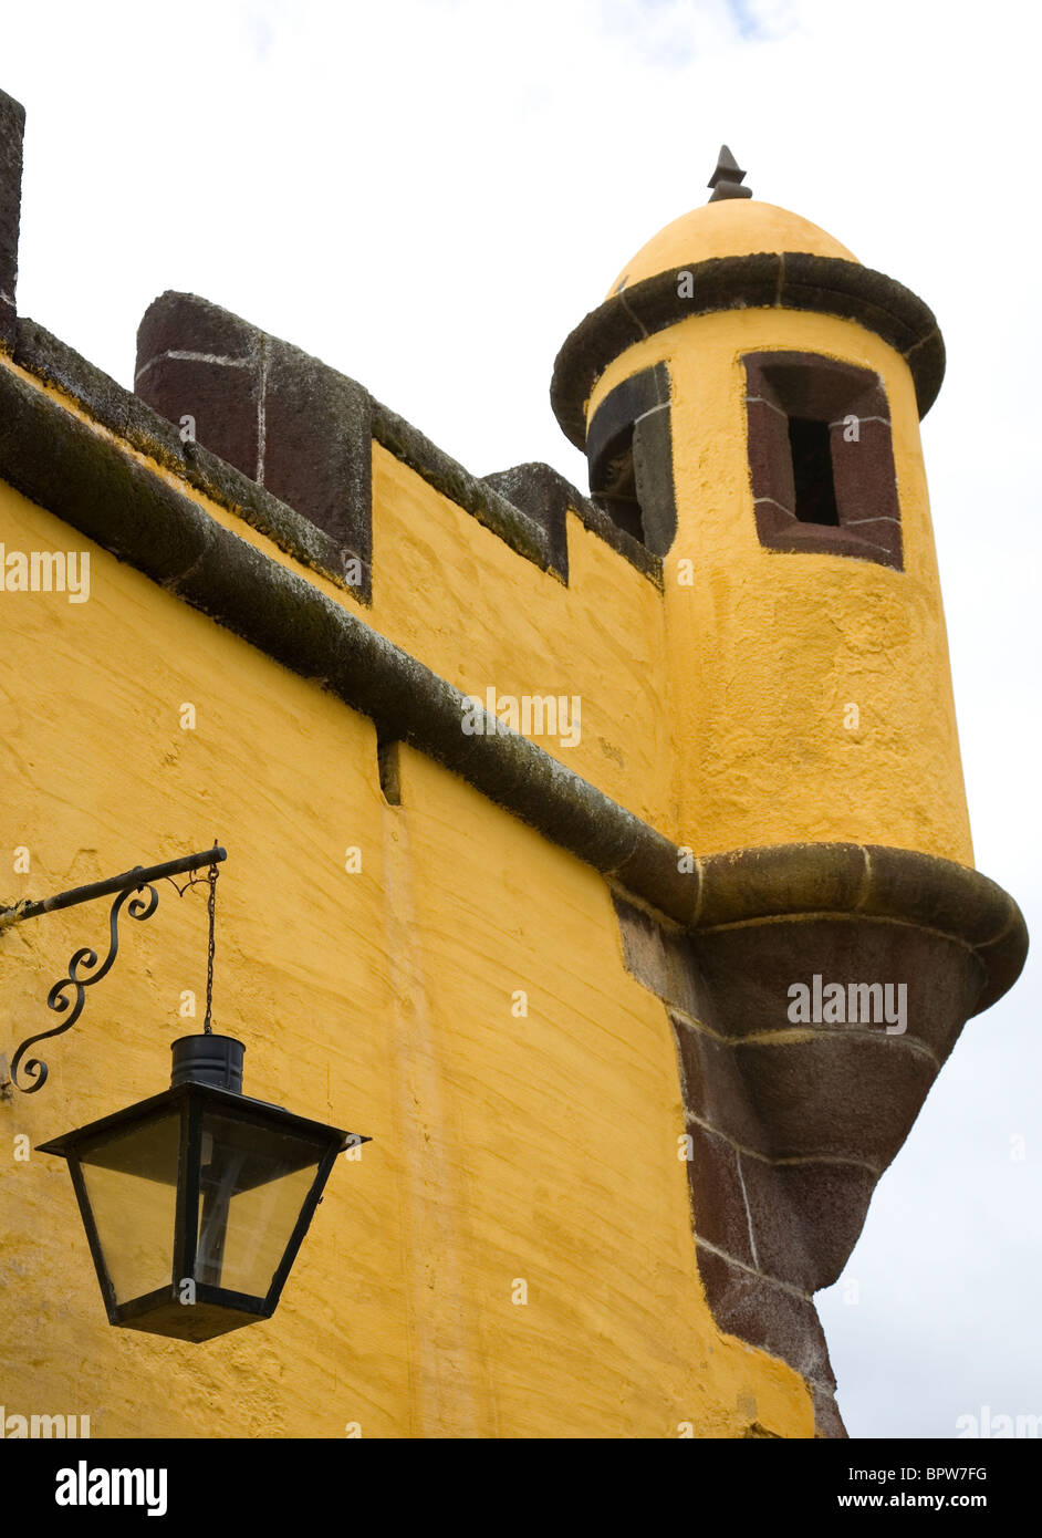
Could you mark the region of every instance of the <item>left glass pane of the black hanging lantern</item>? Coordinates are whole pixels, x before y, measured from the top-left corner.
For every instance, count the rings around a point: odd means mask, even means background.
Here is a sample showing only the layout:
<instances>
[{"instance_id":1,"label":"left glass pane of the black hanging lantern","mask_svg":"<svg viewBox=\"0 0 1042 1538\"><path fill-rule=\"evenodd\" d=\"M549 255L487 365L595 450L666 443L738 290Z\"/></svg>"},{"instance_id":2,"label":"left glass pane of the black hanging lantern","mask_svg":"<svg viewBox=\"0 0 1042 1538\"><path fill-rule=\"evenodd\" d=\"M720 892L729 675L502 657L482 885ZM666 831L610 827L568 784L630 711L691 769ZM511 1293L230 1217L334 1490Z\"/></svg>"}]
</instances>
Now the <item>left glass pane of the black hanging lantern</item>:
<instances>
[{"instance_id":1,"label":"left glass pane of the black hanging lantern","mask_svg":"<svg viewBox=\"0 0 1042 1538\"><path fill-rule=\"evenodd\" d=\"M171 1284L180 1143L172 1110L75 1150L117 1303Z\"/></svg>"}]
</instances>

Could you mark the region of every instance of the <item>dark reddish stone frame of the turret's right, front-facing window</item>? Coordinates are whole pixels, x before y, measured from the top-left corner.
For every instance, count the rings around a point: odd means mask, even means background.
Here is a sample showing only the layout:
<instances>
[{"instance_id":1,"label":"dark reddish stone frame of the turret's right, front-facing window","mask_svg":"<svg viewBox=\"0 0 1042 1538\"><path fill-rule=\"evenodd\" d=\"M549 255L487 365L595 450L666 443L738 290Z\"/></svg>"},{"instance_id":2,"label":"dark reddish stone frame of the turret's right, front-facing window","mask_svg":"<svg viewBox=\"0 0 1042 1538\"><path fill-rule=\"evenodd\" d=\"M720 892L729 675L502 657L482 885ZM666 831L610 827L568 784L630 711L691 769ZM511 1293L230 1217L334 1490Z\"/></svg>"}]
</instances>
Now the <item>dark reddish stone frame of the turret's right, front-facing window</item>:
<instances>
[{"instance_id":1,"label":"dark reddish stone frame of the turret's right, front-facing window","mask_svg":"<svg viewBox=\"0 0 1042 1538\"><path fill-rule=\"evenodd\" d=\"M890 406L881 377L816 352L747 352L741 361L759 543L770 551L851 555L904 571ZM838 524L796 517L793 417L828 424Z\"/></svg>"}]
</instances>

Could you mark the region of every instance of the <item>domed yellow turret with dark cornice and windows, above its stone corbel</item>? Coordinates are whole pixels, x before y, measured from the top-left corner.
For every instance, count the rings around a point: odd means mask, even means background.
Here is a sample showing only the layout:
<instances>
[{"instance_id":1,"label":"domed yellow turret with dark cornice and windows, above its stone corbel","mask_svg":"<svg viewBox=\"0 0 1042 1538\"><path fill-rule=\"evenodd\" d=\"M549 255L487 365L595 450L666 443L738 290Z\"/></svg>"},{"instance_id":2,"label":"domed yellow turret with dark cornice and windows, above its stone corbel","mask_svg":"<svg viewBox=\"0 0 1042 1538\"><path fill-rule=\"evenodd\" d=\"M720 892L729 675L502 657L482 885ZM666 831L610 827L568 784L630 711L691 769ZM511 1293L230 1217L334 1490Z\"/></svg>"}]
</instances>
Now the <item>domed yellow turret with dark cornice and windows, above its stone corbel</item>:
<instances>
[{"instance_id":1,"label":"domed yellow turret with dark cornice and windows, above its stone corbel","mask_svg":"<svg viewBox=\"0 0 1042 1538\"><path fill-rule=\"evenodd\" d=\"M699 852L971 863L918 426L942 366L914 295L735 194L659 231L561 351L592 491L664 558L678 837Z\"/></svg>"}]
</instances>

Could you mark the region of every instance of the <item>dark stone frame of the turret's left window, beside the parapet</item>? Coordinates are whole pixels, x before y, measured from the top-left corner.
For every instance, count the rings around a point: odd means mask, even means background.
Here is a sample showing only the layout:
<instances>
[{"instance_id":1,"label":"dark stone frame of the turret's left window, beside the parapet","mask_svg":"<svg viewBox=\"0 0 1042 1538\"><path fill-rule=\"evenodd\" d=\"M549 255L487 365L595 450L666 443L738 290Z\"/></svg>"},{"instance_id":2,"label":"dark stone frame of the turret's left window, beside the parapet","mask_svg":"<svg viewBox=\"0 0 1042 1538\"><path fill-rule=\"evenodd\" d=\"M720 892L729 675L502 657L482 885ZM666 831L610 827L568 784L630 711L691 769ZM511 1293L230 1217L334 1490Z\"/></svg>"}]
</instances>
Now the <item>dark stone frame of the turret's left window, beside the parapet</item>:
<instances>
[{"instance_id":1,"label":"dark stone frame of the turret's left window, beside the parapet","mask_svg":"<svg viewBox=\"0 0 1042 1538\"><path fill-rule=\"evenodd\" d=\"M653 555L665 555L676 538L676 492L664 363L609 391L590 418L586 457L593 503Z\"/></svg>"}]
</instances>

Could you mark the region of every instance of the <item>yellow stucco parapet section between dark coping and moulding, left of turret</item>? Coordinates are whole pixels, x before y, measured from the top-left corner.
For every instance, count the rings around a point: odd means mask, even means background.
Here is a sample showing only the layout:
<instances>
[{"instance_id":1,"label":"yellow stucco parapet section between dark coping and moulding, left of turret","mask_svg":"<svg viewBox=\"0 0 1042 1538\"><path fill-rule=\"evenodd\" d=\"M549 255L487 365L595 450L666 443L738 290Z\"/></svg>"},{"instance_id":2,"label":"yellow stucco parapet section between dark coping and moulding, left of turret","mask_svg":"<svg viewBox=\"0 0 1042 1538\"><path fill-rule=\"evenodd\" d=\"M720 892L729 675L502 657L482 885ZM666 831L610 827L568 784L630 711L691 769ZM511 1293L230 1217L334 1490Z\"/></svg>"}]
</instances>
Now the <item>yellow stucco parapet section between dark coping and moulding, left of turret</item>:
<instances>
[{"instance_id":1,"label":"yellow stucco parapet section between dark coping and moulding, left of turret","mask_svg":"<svg viewBox=\"0 0 1042 1538\"><path fill-rule=\"evenodd\" d=\"M675 837L662 594L575 514L566 588L373 443L373 601L358 612L464 694L578 697L579 743L533 741Z\"/></svg>"}]
</instances>

